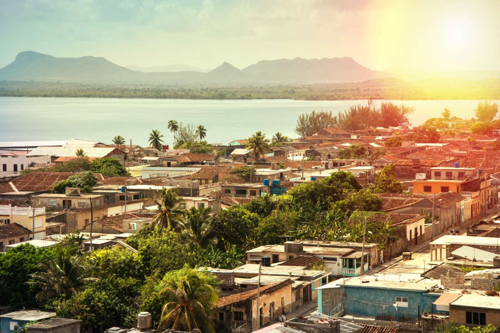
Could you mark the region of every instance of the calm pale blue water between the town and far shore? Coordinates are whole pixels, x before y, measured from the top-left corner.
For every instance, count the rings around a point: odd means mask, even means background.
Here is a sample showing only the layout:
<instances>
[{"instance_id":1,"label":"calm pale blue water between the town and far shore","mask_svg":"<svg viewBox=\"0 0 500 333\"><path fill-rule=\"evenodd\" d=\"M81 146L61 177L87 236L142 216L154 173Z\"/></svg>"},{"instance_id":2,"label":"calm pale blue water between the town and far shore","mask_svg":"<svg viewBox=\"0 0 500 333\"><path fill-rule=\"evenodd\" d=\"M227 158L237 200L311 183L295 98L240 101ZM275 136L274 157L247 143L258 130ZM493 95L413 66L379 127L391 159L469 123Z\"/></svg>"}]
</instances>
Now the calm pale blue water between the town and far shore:
<instances>
[{"instance_id":1,"label":"calm pale blue water between the town and far shore","mask_svg":"<svg viewBox=\"0 0 500 333\"><path fill-rule=\"evenodd\" d=\"M400 103L400 101L394 101ZM461 118L473 117L478 101L404 101L415 107L411 123L440 116L444 108ZM209 143L227 144L255 131L295 138L297 116L312 110L337 113L366 101L293 100L164 100L104 98L0 97L0 141L82 139L110 143L115 135L146 146L148 133L158 129L165 144L173 142L170 119L203 125ZM381 101L376 101L379 106Z\"/></svg>"}]
</instances>

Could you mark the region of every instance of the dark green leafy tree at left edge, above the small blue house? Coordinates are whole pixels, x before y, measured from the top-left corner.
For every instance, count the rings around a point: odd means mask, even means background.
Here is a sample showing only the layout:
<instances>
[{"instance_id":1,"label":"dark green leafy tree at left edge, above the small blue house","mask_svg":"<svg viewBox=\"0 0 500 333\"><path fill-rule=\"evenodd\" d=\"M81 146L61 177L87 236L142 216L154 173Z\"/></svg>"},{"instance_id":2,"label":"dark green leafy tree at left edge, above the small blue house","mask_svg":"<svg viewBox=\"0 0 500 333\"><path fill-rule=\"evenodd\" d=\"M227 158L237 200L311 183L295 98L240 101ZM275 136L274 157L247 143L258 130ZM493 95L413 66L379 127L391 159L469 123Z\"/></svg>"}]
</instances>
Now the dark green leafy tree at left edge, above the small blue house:
<instances>
[{"instance_id":1,"label":"dark green leafy tree at left edge, above the small blue house","mask_svg":"<svg viewBox=\"0 0 500 333\"><path fill-rule=\"evenodd\" d=\"M51 249L37 248L23 244L0 252L0 305L12 310L36 305L35 296L40 291L37 286L26 285L36 265Z\"/></svg>"}]
</instances>

